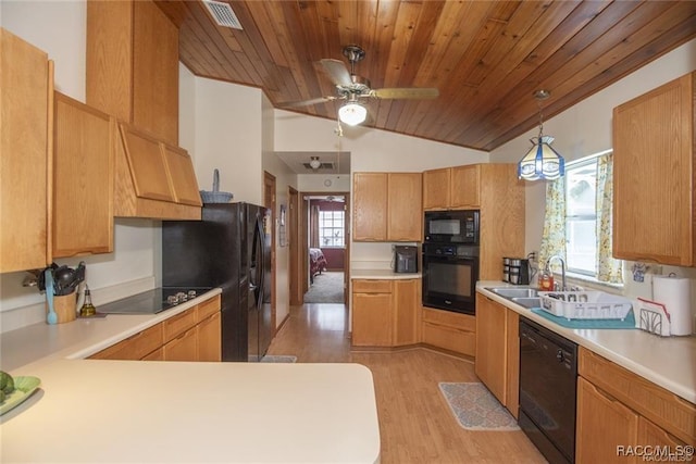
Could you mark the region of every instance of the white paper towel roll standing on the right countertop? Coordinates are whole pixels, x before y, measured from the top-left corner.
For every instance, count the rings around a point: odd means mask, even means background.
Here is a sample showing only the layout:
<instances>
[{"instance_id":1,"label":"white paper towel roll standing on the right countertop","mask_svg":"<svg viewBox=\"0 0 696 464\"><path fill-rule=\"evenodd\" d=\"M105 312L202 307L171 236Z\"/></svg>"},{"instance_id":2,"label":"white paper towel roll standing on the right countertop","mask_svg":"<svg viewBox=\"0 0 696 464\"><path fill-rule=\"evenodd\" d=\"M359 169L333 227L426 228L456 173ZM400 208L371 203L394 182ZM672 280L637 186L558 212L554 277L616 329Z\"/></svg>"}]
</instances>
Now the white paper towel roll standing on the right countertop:
<instances>
[{"instance_id":1,"label":"white paper towel roll standing on the right countertop","mask_svg":"<svg viewBox=\"0 0 696 464\"><path fill-rule=\"evenodd\" d=\"M687 278L652 277L652 299L667 308L672 335L692 334L691 284Z\"/></svg>"}]
</instances>

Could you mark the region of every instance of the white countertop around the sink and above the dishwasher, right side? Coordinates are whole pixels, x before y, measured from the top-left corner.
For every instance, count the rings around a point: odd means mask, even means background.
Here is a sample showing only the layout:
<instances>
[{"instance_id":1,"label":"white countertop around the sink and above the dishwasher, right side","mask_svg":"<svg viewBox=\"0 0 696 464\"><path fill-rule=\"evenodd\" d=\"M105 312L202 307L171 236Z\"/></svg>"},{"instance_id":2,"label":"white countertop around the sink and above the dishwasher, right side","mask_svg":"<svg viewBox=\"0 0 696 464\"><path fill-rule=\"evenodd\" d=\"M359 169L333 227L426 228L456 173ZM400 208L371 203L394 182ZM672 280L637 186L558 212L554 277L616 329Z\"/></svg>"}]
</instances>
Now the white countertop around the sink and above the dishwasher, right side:
<instances>
[{"instance_id":1,"label":"white countertop around the sink and above the dishwasher, right side","mask_svg":"<svg viewBox=\"0 0 696 464\"><path fill-rule=\"evenodd\" d=\"M495 280L478 281L476 291L672 393L696 403L696 337L658 337L639 329L561 327L485 289L485 287L506 286L510 285Z\"/></svg>"}]
</instances>

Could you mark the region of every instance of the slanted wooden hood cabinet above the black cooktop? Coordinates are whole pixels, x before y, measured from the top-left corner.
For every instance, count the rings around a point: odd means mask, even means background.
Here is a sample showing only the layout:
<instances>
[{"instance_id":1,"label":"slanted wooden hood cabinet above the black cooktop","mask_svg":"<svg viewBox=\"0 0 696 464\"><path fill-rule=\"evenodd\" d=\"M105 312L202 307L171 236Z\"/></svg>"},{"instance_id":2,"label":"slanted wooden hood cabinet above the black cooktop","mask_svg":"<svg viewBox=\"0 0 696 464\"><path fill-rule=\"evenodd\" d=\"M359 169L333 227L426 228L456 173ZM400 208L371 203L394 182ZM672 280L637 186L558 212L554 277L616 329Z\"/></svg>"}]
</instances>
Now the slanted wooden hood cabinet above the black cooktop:
<instances>
[{"instance_id":1,"label":"slanted wooden hood cabinet above the black cooktop","mask_svg":"<svg viewBox=\"0 0 696 464\"><path fill-rule=\"evenodd\" d=\"M188 153L132 124L119 124L114 214L200 220L202 202Z\"/></svg>"}]
</instances>

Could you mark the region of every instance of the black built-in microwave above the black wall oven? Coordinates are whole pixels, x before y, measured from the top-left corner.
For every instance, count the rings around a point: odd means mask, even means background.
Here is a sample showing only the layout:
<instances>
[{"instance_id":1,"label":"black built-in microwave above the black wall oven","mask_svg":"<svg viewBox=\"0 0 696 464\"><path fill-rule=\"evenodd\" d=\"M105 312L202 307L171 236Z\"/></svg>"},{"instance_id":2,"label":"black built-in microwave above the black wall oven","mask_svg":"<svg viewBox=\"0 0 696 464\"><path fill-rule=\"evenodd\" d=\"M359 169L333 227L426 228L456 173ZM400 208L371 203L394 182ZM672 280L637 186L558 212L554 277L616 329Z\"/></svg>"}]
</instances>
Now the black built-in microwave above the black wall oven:
<instances>
[{"instance_id":1,"label":"black built-in microwave above the black wall oven","mask_svg":"<svg viewBox=\"0 0 696 464\"><path fill-rule=\"evenodd\" d=\"M478 210L426 211L425 242L478 244Z\"/></svg>"}]
</instances>

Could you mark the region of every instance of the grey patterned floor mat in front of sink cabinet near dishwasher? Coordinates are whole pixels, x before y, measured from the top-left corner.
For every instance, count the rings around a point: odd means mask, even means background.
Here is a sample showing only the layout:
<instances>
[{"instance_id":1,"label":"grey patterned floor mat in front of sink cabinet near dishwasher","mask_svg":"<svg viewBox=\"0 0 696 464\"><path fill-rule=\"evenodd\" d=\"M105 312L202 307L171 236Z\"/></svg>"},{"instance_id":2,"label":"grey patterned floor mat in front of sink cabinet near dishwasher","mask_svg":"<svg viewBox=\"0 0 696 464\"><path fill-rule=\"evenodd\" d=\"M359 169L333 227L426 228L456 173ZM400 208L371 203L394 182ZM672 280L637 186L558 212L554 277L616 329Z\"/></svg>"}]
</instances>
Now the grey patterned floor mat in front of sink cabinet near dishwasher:
<instances>
[{"instance_id":1,"label":"grey patterned floor mat in front of sink cabinet near dishwasher","mask_svg":"<svg viewBox=\"0 0 696 464\"><path fill-rule=\"evenodd\" d=\"M496 398L478 383L440 383L439 389L468 430L519 430L518 423Z\"/></svg>"}]
</instances>

